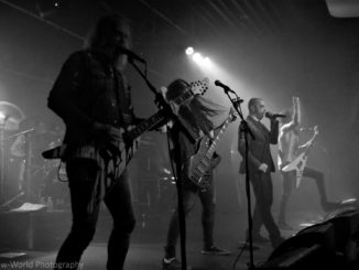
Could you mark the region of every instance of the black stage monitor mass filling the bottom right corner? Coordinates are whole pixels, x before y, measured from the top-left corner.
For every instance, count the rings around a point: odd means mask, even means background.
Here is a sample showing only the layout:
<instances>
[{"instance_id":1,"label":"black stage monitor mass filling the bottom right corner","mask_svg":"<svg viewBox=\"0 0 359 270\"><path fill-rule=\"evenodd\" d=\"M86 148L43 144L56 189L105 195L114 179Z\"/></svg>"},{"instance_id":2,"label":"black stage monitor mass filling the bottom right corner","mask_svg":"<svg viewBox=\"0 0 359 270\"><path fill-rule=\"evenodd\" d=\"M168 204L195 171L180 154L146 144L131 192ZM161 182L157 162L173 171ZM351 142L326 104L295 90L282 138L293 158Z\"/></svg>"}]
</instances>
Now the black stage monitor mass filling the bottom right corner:
<instances>
[{"instance_id":1,"label":"black stage monitor mass filling the bottom right corner","mask_svg":"<svg viewBox=\"0 0 359 270\"><path fill-rule=\"evenodd\" d=\"M358 244L350 259L349 242ZM285 240L259 269L349 269L349 264L358 262L358 246L359 212L341 209Z\"/></svg>"}]
</instances>

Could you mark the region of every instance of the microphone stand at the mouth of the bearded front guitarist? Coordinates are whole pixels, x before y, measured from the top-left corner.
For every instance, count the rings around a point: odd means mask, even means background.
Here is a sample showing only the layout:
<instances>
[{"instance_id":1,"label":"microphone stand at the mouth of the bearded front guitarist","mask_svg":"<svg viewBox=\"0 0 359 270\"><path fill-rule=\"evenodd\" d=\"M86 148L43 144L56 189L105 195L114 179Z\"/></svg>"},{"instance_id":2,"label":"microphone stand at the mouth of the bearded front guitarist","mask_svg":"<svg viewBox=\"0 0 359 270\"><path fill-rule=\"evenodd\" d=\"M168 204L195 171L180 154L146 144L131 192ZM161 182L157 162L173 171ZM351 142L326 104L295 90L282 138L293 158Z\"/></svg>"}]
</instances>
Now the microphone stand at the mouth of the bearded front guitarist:
<instances>
[{"instance_id":1,"label":"microphone stand at the mouth of the bearded front guitarist","mask_svg":"<svg viewBox=\"0 0 359 270\"><path fill-rule=\"evenodd\" d=\"M149 86L150 90L152 90L155 95L154 102L159 107L160 110L165 110L166 111L166 122L170 119L173 119L177 123L181 125L181 121L177 119L176 115L173 114L170 105L164 100L163 96L161 93L156 90L156 88L151 84L151 82L146 78L146 65L145 65L145 73L143 73L134 63L133 58L129 57L129 63L134 67L134 69L140 74L140 76L144 79L146 85ZM175 149L178 149L178 143L176 142ZM178 151L176 151L178 152ZM178 223L180 223L180 240L181 240L181 261L182 261L182 270L187 269L187 259L186 259L186 219L185 219L185 212L183 207L183 188L182 188L182 176L181 176L181 165L180 165L180 153L176 153L176 171L177 175L175 173L173 174L175 177L176 182L176 188L177 188L177 208L178 208Z\"/></svg>"}]
</instances>

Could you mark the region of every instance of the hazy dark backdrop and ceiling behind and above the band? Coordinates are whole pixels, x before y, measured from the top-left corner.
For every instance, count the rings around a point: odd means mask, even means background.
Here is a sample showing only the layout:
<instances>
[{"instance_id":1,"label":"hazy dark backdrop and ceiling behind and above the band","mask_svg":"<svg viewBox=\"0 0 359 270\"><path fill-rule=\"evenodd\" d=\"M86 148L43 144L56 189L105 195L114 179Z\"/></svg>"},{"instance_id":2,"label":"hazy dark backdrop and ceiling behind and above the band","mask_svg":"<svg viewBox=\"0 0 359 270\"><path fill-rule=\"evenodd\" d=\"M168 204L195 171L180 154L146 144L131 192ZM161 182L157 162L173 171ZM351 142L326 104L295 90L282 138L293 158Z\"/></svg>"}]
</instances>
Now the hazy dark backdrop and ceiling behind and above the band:
<instances>
[{"instance_id":1,"label":"hazy dark backdrop and ceiling behind and above the band","mask_svg":"<svg viewBox=\"0 0 359 270\"><path fill-rule=\"evenodd\" d=\"M319 126L308 164L326 173L329 198L359 195L357 18L330 15L324 0L57 2L55 8L52 0L0 1L0 100L17 105L26 118L42 119L50 127L62 125L46 108L62 64L81 48L83 39L100 15L121 12L131 20L133 51L148 61L149 79L156 87L177 77L191 80L208 75L227 83L231 82L226 80L228 76L246 100L244 112L253 96L263 97L272 111L289 107L292 96L301 97L304 127ZM226 76L197 67L184 54L188 45L211 57ZM152 94L131 66L127 74L137 114L150 116L156 109ZM213 80L208 95L227 102ZM224 162L217 174L222 181L218 194L226 194L219 195L224 208L237 207L233 199L239 196L233 188L240 160L238 122L231 125L219 148ZM165 140L149 136L165 152ZM303 140L311 136L305 133ZM280 177L275 180L280 192ZM297 201L303 205L316 202L312 183L302 188ZM303 199L303 194L309 194L308 199Z\"/></svg>"}]
</instances>

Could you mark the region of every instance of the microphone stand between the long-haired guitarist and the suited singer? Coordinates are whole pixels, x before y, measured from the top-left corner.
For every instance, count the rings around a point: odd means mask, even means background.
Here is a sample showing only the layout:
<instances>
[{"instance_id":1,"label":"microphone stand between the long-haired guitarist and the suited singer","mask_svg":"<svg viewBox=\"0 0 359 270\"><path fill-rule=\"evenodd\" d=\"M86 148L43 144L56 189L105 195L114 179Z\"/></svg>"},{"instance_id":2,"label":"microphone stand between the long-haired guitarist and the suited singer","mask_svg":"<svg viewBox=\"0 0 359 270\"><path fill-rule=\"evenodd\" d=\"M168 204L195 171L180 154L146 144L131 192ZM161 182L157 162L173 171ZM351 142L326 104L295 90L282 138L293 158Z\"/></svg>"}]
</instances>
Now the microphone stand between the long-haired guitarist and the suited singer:
<instances>
[{"instance_id":1,"label":"microphone stand between the long-haired guitarist and the suited singer","mask_svg":"<svg viewBox=\"0 0 359 270\"><path fill-rule=\"evenodd\" d=\"M225 94L229 98L230 102L232 104L233 108L236 109L237 114L239 115L241 122L240 129L244 132L244 163L246 163L246 194L247 194L247 215L248 215L248 241L249 241L249 268L250 270L255 269L254 260L253 260L253 239L252 239L252 214L251 214L251 193L250 193L250 184L249 184L249 165L248 165L248 155L249 155L249 148L248 148L248 134L255 140L253 132L249 128L247 121L243 118L243 114L241 112L240 104L243 101L240 97L238 97L237 93L231 90L228 86L222 87ZM236 95L236 98L231 98L229 93Z\"/></svg>"}]
</instances>

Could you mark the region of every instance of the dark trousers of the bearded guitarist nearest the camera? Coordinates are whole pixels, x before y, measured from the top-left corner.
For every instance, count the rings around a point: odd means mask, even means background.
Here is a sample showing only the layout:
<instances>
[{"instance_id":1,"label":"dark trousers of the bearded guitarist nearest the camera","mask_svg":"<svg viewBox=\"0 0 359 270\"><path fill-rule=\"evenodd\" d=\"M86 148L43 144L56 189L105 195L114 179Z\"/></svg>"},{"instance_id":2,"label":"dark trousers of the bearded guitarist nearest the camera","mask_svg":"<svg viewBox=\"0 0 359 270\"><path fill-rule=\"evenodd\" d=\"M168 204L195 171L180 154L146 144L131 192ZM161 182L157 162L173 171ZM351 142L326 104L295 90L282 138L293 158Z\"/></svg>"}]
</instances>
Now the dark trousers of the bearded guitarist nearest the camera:
<instances>
[{"instance_id":1,"label":"dark trousers of the bearded guitarist nearest the camera","mask_svg":"<svg viewBox=\"0 0 359 270\"><path fill-rule=\"evenodd\" d=\"M55 269L77 269L84 250L90 244L98 220L100 202L89 207L99 168L91 160L77 159L66 165L72 199L73 225L62 245ZM108 270L123 269L130 245L130 234L135 218L127 172L104 198L112 218L113 227L108 241Z\"/></svg>"}]
</instances>

